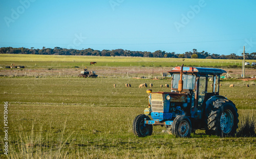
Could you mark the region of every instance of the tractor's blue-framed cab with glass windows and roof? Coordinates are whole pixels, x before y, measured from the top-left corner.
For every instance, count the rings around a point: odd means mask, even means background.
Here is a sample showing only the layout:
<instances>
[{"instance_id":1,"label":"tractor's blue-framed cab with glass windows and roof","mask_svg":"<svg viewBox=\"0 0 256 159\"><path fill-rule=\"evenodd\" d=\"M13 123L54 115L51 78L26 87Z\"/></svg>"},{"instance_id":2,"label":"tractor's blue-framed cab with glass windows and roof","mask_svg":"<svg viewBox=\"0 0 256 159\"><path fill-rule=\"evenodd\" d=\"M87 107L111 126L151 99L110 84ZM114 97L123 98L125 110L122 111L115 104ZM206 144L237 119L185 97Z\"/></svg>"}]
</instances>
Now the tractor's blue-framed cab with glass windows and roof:
<instances>
[{"instance_id":1,"label":"tractor's blue-framed cab with glass windows and roof","mask_svg":"<svg viewBox=\"0 0 256 159\"><path fill-rule=\"evenodd\" d=\"M181 75L182 71L182 75ZM202 118L205 102L219 95L220 75L226 73L221 69L202 67L174 67L169 71L172 75L172 93L178 93L178 85L182 76L181 94L188 94L191 98L191 115L196 119Z\"/></svg>"}]
</instances>

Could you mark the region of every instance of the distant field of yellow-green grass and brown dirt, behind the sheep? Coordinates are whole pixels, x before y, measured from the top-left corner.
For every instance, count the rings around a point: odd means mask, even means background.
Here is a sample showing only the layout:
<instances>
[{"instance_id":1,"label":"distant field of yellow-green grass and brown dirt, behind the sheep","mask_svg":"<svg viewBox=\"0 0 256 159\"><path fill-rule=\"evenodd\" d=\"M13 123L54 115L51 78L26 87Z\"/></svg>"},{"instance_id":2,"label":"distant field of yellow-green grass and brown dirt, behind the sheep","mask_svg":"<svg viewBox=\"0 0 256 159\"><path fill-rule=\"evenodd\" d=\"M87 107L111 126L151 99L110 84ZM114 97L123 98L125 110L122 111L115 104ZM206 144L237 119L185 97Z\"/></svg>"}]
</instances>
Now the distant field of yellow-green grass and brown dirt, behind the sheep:
<instances>
[{"instance_id":1,"label":"distant field of yellow-green grass and brown dirt, behind the sheep","mask_svg":"<svg viewBox=\"0 0 256 159\"><path fill-rule=\"evenodd\" d=\"M90 61L97 63L90 65ZM12 63L16 66L23 65L25 69L5 69L5 66ZM154 78L182 63L185 66L221 67L231 77L241 77L242 60L19 54L0 54L0 76L77 77L84 67L87 67L90 71L96 71L99 77ZM255 74L255 68L246 67L246 77L256 76Z\"/></svg>"}]
</instances>

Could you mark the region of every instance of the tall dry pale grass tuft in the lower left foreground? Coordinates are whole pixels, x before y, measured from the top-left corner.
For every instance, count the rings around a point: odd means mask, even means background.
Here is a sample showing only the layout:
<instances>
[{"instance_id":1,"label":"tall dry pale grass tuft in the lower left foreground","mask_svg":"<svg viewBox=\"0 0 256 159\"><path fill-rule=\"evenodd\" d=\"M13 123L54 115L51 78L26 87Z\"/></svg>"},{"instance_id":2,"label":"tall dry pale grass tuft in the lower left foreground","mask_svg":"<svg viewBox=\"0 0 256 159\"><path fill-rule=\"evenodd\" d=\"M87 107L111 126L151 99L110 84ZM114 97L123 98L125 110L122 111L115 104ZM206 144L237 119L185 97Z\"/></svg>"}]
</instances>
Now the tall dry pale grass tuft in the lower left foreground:
<instances>
[{"instance_id":1,"label":"tall dry pale grass tuft in the lower left foreground","mask_svg":"<svg viewBox=\"0 0 256 159\"><path fill-rule=\"evenodd\" d=\"M66 120L67 122L67 120ZM60 132L59 142L56 143L56 139L53 137L53 133L50 129L45 136L42 135L42 128L38 133L34 132L34 125L32 125L31 132L29 134L24 133L23 128L19 128L17 135L17 141L10 142L8 158L67 158L70 145L67 147L66 143L73 134L68 135L67 139L64 139L66 122L63 126L63 130ZM66 146L66 147L65 147ZM65 147L65 149L64 149Z\"/></svg>"}]
</instances>

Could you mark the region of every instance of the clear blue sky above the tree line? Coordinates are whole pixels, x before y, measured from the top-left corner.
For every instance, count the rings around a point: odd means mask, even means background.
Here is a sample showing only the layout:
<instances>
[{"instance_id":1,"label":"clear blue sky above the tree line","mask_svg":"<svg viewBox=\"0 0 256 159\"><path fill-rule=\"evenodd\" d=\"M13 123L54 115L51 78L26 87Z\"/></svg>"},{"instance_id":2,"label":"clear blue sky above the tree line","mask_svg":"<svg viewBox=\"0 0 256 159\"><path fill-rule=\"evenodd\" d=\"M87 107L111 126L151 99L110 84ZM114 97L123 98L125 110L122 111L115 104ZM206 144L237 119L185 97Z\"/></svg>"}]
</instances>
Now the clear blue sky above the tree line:
<instances>
[{"instance_id":1,"label":"clear blue sky above the tree line","mask_svg":"<svg viewBox=\"0 0 256 159\"><path fill-rule=\"evenodd\" d=\"M256 1L0 2L0 47L256 52Z\"/></svg>"}]
</instances>

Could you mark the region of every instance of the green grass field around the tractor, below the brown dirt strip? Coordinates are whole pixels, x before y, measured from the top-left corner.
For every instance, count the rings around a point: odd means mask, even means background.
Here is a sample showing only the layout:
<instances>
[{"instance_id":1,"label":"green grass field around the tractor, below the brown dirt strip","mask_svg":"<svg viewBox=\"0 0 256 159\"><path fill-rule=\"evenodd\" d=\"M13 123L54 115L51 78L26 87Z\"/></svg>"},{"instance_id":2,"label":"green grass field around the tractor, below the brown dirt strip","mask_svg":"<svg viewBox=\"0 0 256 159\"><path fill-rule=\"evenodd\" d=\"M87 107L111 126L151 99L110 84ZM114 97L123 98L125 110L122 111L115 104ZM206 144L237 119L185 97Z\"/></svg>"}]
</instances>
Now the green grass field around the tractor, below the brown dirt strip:
<instances>
[{"instance_id":1,"label":"green grass field around the tractor, below the brown dirt strip","mask_svg":"<svg viewBox=\"0 0 256 159\"><path fill-rule=\"evenodd\" d=\"M0 78L0 83L0 103L10 103L10 158L256 157L256 138L251 137L219 138L197 130L181 139L162 133L161 126L154 126L149 137L135 137L133 120L148 103L147 88L138 85L153 83L153 92L167 92L170 88L159 86L170 80L19 77ZM125 83L132 87L125 88ZM221 83L220 95L238 106L239 119L255 117L255 81ZM235 87L229 88L231 83ZM1 158L6 157L3 137L0 131Z\"/></svg>"}]
</instances>

